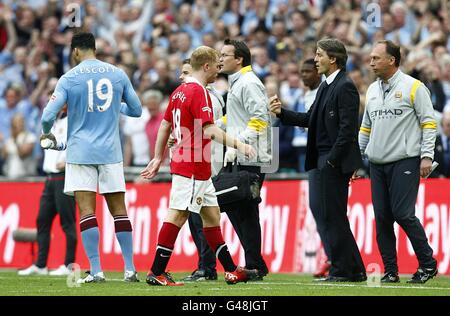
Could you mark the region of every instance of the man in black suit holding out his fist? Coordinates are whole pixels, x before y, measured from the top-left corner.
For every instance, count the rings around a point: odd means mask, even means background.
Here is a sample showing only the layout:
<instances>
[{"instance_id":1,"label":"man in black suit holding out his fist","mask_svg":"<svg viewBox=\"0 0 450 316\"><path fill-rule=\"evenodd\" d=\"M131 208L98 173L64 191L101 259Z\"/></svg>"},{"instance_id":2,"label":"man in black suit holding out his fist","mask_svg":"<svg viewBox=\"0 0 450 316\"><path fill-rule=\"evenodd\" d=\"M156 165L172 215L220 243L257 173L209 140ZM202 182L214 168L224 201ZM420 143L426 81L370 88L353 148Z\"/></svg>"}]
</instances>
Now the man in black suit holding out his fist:
<instances>
[{"instance_id":1,"label":"man in black suit holding out his fist","mask_svg":"<svg viewBox=\"0 0 450 316\"><path fill-rule=\"evenodd\" d=\"M325 282L361 282L367 279L364 263L347 218L348 183L362 166L358 145L359 93L347 77L347 51L336 39L317 43L314 58L322 82L311 109L296 113L281 108L278 98L270 109L283 124L308 127L305 169L319 170L317 190L325 231L330 243L331 269Z\"/></svg>"}]
</instances>

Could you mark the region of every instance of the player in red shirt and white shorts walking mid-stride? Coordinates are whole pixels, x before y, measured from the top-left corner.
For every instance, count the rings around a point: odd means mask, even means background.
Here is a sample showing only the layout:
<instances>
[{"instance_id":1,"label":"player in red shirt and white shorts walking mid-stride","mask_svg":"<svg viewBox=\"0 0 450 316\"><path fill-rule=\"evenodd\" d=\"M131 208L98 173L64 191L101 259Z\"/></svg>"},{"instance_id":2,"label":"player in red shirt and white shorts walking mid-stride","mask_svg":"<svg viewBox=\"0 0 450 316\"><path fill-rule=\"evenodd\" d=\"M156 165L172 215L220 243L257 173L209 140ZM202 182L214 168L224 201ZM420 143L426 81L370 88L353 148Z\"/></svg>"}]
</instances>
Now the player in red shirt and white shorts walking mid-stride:
<instances>
[{"instance_id":1,"label":"player in red shirt and white shorts walking mid-stride","mask_svg":"<svg viewBox=\"0 0 450 316\"><path fill-rule=\"evenodd\" d=\"M215 81L219 67L216 50L200 46L191 56L192 76L186 78L170 96L164 120L158 131L155 157L141 172L152 179L159 170L167 140L173 131L170 170L172 188L169 211L158 236L158 245L152 267L147 275L149 285L182 285L166 271L180 228L189 212L199 213L209 246L225 270L228 284L246 282L257 274L234 264L220 229L220 210L211 181L211 140L236 148L249 158L256 152L253 147L228 136L214 125L211 99L206 85Z\"/></svg>"}]
</instances>

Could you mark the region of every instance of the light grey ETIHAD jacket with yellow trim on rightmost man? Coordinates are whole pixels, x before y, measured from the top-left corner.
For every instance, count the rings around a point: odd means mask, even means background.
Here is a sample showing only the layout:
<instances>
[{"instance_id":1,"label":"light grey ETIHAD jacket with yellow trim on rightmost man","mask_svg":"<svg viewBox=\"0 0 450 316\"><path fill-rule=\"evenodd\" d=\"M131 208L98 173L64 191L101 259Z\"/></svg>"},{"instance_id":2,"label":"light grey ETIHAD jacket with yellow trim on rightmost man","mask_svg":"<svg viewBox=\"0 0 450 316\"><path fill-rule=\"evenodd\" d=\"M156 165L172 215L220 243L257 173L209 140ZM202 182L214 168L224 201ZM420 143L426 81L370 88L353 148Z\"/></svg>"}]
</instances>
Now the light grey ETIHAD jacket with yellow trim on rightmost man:
<instances>
[{"instance_id":1,"label":"light grey ETIHAD jacket with yellow trim on rightmost man","mask_svg":"<svg viewBox=\"0 0 450 316\"><path fill-rule=\"evenodd\" d=\"M433 159L436 128L430 92L419 80L398 70L384 91L380 79L369 86L359 146L370 162Z\"/></svg>"}]
</instances>

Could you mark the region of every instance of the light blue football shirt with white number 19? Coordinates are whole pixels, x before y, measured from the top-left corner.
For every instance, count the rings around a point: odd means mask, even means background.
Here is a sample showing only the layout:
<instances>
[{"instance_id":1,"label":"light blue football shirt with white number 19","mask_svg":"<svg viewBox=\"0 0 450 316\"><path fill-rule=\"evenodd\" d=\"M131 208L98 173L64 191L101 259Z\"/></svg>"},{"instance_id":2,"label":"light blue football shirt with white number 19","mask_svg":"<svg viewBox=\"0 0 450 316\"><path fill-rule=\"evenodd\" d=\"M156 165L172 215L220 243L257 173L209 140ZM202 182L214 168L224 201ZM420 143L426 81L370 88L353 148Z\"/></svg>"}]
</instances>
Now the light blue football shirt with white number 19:
<instances>
[{"instance_id":1,"label":"light blue football shirt with white number 19","mask_svg":"<svg viewBox=\"0 0 450 316\"><path fill-rule=\"evenodd\" d=\"M125 102L123 103L122 100ZM139 117L142 105L125 72L88 59L63 75L42 114L42 129L50 132L67 103L67 162L111 164L123 160L119 116Z\"/></svg>"}]
</instances>

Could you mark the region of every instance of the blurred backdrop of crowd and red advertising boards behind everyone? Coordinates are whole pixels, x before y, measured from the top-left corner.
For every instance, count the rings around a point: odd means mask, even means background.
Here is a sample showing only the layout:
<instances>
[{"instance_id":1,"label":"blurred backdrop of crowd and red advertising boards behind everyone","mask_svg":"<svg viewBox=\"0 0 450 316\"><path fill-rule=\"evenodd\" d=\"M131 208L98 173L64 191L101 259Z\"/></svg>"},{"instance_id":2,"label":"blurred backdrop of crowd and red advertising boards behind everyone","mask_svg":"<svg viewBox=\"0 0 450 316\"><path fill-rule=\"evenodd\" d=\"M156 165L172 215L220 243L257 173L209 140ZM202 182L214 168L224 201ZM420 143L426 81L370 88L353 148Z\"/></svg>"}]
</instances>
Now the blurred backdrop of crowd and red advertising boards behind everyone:
<instances>
[{"instance_id":1,"label":"blurred backdrop of crowd and red advertising boards behind everyone","mask_svg":"<svg viewBox=\"0 0 450 316\"><path fill-rule=\"evenodd\" d=\"M74 26L93 32L98 58L125 70L145 108L141 118L123 118L121 135L128 181L127 203L135 227L139 270L150 264L158 228L167 209L167 162L153 183L143 183L139 171L152 158L156 131L167 98L178 85L183 59L199 45L220 49L225 38L245 40L251 48L253 70L270 95L278 94L288 108L304 108L307 88L300 76L302 61L314 58L315 43L335 37L346 44L347 71L361 97L375 80L369 68L372 44L390 39L402 47L401 69L429 88L442 120L438 138L450 138L450 2L447 0L23 0L0 1L0 268L22 268L33 259L33 248L18 243L12 232L35 228L38 201L45 179L43 151L37 141L40 115L57 79L71 68L70 40ZM216 88L226 96L228 82ZM20 116L23 124L12 126ZM274 126L278 122L274 119ZM12 129L15 132L12 133ZM263 189L261 222L263 254L273 272L314 271L323 259L320 240L308 211L303 173L304 142L294 128L280 127L278 172L269 174ZM17 141L20 139L20 141ZM34 144L19 155L19 149ZM450 146L437 146L441 154ZM445 156L445 153L444 153ZM449 155L445 156L450 157ZM417 201L439 261L450 274L450 162L423 181ZM363 173L364 175L365 173ZM102 231L101 252L106 269L119 271L121 258L113 238L106 205L98 200ZM349 217L366 265L379 264L368 180L352 185ZM222 220L233 256L243 254L226 216ZM399 232L402 273L415 271L411 246ZM193 270L196 251L184 229L171 265L175 271ZM52 238L49 267L64 256L64 237L58 224ZM78 246L77 262L87 260ZM377 266L373 265L374 271ZM369 271L370 272L370 271ZM381 271L382 272L382 271Z\"/></svg>"}]
</instances>

